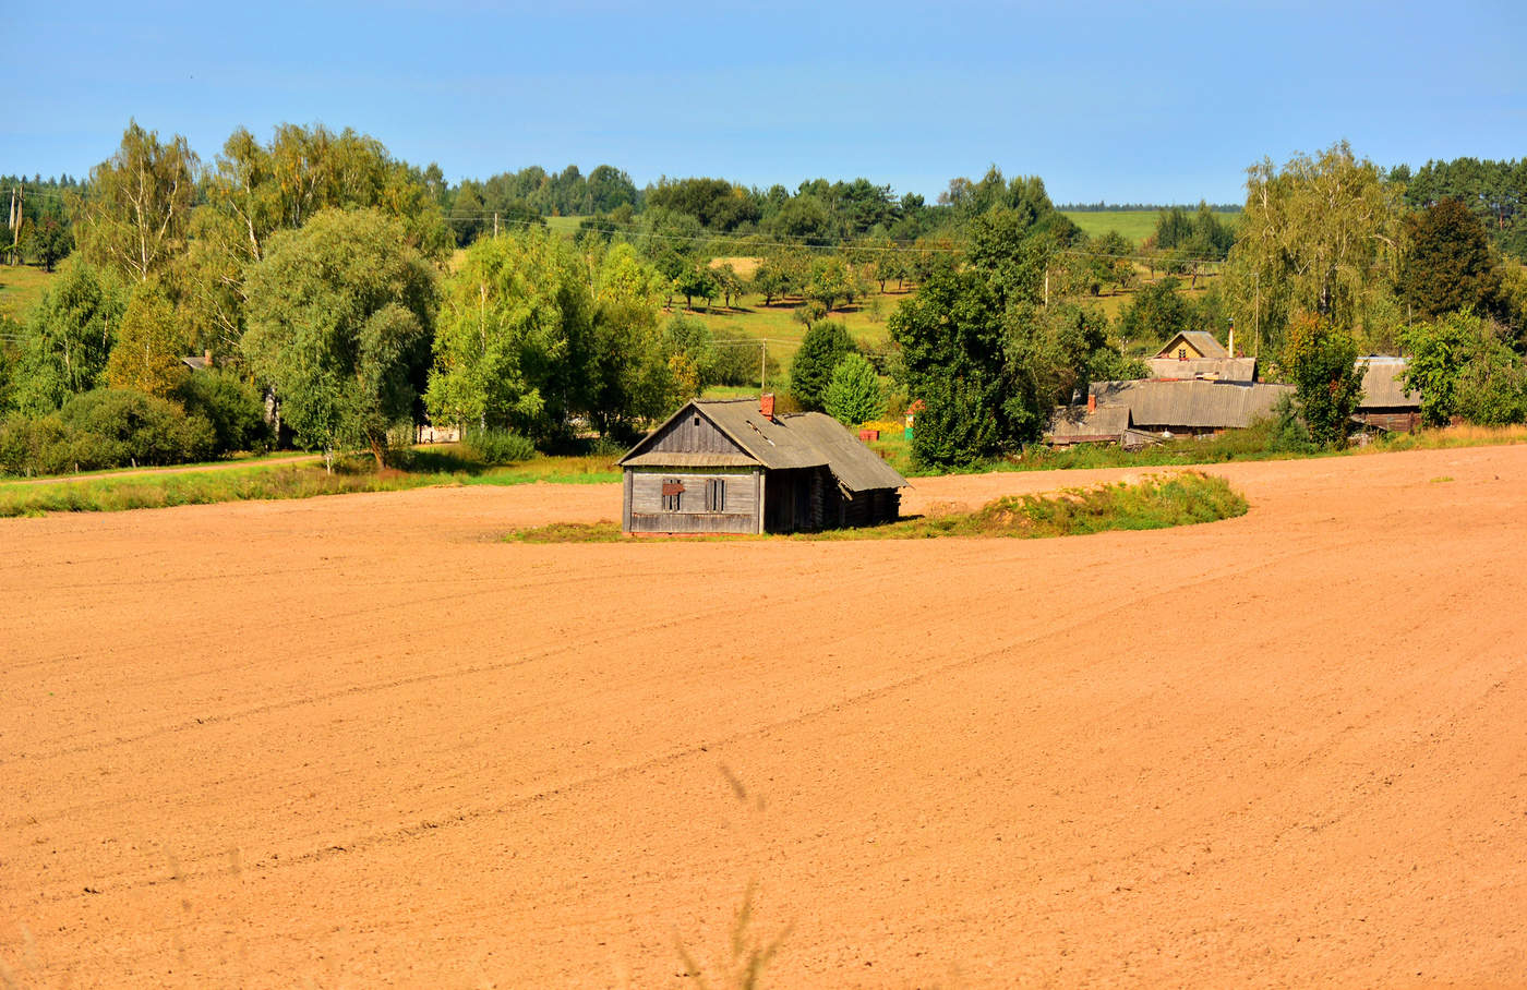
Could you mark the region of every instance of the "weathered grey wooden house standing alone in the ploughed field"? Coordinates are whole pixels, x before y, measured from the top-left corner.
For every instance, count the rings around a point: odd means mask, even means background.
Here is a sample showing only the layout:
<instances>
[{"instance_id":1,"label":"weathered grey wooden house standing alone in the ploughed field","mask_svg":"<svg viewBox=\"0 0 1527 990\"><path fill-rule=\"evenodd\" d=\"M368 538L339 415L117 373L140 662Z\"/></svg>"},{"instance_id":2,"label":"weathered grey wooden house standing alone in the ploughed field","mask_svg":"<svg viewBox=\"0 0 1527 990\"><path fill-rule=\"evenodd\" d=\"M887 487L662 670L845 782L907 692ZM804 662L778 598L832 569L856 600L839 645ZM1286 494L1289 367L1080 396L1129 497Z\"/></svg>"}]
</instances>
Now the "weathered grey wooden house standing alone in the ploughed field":
<instances>
[{"instance_id":1,"label":"weathered grey wooden house standing alone in the ploughed field","mask_svg":"<svg viewBox=\"0 0 1527 990\"><path fill-rule=\"evenodd\" d=\"M625 532L797 532L890 522L907 479L820 412L690 401L620 459Z\"/></svg>"}]
</instances>

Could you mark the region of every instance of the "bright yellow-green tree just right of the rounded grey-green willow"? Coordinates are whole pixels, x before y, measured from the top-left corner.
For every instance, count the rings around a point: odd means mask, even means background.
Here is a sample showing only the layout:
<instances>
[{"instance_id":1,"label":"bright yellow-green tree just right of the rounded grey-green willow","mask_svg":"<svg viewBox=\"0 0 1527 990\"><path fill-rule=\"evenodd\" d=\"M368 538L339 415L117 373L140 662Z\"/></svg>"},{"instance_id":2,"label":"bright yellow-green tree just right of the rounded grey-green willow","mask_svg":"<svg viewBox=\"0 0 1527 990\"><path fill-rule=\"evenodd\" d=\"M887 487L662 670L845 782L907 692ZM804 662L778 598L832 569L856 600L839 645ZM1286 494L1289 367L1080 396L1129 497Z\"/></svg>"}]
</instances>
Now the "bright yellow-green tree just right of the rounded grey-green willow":
<instances>
[{"instance_id":1,"label":"bright yellow-green tree just right of the rounded grey-green willow","mask_svg":"<svg viewBox=\"0 0 1527 990\"><path fill-rule=\"evenodd\" d=\"M446 281L431 418L539 444L568 433L588 406L594 311L588 265L562 238L536 229L478 241Z\"/></svg>"}]
</instances>

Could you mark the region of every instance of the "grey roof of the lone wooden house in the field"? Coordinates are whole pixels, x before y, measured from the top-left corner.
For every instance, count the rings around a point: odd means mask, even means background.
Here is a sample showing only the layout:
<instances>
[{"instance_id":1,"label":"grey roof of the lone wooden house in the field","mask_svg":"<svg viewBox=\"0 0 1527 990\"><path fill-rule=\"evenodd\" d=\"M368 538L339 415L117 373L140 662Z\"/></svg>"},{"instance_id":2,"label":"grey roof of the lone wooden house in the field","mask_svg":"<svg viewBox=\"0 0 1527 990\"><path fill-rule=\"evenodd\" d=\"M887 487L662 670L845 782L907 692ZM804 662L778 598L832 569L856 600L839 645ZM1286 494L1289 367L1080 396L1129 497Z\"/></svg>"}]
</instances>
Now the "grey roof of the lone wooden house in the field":
<instances>
[{"instance_id":1,"label":"grey roof of the lone wooden house in the field","mask_svg":"<svg viewBox=\"0 0 1527 990\"><path fill-rule=\"evenodd\" d=\"M851 491L902 488L907 484L906 477L861 444L847 427L820 412L780 415L770 419L759 412L757 400L738 398L692 401L673 413L669 421L686 413L690 407L715 423L722 433L742 447L753 458L751 462L762 464L770 470L826 467ZM658 427L654 435L661 429ZM647 439L632 447L631 453L620 459L620 464L631 467L736 464L736 455L646 453L643 447ZM673 461L675 456L684 458L684 462Z\"/></svg>"}]
</instances>

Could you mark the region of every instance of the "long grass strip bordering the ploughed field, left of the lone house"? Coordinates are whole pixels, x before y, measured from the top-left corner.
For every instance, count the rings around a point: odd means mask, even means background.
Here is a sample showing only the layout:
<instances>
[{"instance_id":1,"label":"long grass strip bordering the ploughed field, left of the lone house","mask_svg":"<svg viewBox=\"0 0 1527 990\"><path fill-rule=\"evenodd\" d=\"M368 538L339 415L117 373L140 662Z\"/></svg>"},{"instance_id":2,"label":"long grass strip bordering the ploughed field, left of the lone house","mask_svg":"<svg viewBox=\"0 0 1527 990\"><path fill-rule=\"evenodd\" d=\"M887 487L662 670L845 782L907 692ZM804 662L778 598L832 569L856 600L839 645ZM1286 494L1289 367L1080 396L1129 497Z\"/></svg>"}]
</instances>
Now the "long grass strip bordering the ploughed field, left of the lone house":
<instances>
[{"instance_id":1,"label":"long grass strip bordering the ploughed field, left of the lone house","mask_svg":"<svg viewBox=\"0 0 1527 990\"><path fill-rule=\"evenodd\" d=\"M609 458L536 458L508 467L470 461L458 448L414 450L395 468L376 471L363 458L344 459L333 474L322 464L249 465L111 477L60 477L44 484L0 482L0 519L43 513L115 513L173 505L310 499L357 491L403 491L431 485L609 484L620 471Z\"/></svg>"}]
</instances>

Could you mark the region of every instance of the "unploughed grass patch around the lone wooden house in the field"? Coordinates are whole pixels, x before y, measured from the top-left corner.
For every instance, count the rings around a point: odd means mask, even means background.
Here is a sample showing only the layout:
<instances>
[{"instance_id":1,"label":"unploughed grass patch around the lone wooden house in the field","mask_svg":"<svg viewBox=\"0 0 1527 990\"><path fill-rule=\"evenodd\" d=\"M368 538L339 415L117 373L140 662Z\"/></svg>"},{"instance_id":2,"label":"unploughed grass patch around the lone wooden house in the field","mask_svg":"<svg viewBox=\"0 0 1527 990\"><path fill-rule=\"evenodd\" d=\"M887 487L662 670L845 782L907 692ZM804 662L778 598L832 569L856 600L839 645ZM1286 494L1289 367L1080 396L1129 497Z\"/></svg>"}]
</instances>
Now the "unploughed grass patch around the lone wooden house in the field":
<instances>
[{"instance_id":1,"label":"unploughed grass patch around the lone wooden house in the field","mask_svg":"<svg viewBox=\"0 0 1527 990\"><path fill-rule=\"evenodd\" d=\"M828 529L788 537L669 537L675 540L928 540L935 537L1070 537L1110 529L1165 529L1246 514L1246 499L1223 477L1183 471L1135 484L1069 488L1055 494L1006 496L974 513L915 516L884 526ZM551 523L516 529L510 543L612 543L620 525ZM658 537L663 538L663 537Z\"/></svg>"}]
</instances>

